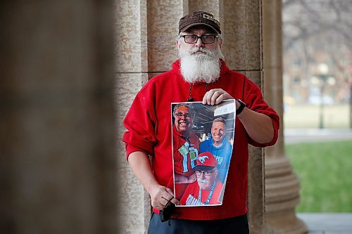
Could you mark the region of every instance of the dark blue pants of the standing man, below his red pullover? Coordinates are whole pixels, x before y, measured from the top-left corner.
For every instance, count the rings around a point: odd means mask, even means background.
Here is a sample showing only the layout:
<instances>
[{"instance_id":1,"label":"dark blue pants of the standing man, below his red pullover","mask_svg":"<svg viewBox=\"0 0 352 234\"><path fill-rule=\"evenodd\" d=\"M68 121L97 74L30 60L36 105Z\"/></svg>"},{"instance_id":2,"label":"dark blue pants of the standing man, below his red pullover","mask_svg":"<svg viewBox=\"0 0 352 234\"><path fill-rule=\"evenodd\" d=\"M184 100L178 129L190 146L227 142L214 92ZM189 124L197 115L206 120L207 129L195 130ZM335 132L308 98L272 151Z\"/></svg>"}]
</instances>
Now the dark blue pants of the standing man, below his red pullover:
<instances>
[{"instance_id":1,"label":"dark blue pants of the standing man, below his red pullover","mask_svg":"<svg viewBox=\"0 0 352 234\"><path fill-rule=\"evenodd\" d=\"M247 215L241 215L230 219L216 220L187 220L171 219L169 222L162 223L158 214L151 214L148 234L248 234L249 226Z\"/></svg>"}]
</instances>

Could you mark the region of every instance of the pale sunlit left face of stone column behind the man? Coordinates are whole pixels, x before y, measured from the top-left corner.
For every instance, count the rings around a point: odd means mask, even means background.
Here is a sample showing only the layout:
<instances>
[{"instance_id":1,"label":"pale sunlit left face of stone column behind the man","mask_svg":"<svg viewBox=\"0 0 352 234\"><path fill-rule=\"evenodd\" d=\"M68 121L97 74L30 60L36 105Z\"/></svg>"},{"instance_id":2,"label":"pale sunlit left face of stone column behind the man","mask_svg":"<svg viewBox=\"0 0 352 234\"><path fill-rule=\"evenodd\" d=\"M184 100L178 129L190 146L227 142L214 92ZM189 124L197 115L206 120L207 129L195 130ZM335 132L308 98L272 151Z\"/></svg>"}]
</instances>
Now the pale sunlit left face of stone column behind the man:
<instances>
[{"instance_id":1,"label":"pale sunlit left face of stone column behind the man","mask_svg":"<svg viewBox=\"0 0 352 234\"><path fill-rule=\"evenodd\" d=\"M125 131L122 120L137 92L148 80L146 1L114 1L116 100L119 107L118 131L118 184L120 206L119 233L144 233L150 217L149 200L126 162L121 138ZM146 201L144 203L144 201ZM149 201L150 203L150 201Z\"/></svg>"}]
</instances>

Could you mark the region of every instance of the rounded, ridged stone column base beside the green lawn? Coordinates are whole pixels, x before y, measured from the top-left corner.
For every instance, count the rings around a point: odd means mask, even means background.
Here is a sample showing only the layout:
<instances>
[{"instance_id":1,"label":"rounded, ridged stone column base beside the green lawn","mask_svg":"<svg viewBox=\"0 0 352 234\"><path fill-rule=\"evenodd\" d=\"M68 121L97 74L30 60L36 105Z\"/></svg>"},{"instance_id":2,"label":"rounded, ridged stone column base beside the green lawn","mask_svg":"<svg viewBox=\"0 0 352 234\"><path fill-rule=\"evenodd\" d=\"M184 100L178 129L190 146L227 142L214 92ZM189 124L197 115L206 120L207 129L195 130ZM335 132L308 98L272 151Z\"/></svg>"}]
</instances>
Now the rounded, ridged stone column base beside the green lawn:
<instances>
[{"instance_id":1,"label":"rounded, ridged stone column base beside the green lawn","mask_svg":"<svg viewBox=\"0 0 352 234\"><path fill-rule=\"evenodd\" d=\"M274 233L307 233L306 225L295 214L299 203L299 181L289 158L265 158L266 221Z\"/></svg>"}]
</instances>

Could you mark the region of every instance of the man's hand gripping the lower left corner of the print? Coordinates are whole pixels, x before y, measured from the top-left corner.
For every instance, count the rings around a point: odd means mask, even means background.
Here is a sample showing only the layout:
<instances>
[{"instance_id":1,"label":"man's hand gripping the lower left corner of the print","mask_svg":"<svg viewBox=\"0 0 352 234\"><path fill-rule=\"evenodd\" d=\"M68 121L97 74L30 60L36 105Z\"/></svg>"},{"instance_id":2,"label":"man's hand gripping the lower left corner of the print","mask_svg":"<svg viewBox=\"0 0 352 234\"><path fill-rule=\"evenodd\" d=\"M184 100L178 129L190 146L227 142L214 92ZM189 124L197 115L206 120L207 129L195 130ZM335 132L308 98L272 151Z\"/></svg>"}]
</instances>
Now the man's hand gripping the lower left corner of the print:
<instances>
[{"instance_id":1,"label":"man's hand gripping the lower left corner of the print","mask_svg":"<svg viewBox=\"0 0 352 234\"><path fill-rule=\"evenodd\" d=\"M163 210L169 200L173 204L180 204L180 202L175 199L172 190L161 185L153 186L149 195L151 195L151 206L158 210Z\"/></svg>"}]
</instances>

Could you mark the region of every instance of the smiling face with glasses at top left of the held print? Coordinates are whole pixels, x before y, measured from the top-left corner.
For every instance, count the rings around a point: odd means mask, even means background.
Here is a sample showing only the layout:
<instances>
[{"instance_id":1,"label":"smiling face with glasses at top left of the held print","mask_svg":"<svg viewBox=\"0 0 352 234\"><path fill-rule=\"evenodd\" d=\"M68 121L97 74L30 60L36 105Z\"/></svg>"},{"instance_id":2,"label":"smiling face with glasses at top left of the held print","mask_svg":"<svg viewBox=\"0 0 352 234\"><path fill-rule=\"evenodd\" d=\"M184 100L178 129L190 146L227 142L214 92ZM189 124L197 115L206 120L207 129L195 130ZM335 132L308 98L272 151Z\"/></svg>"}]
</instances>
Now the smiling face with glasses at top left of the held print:
<instances>
[{"instance_id":1,"label":"smiling face with glasses at top left of the held print","mask_svg":"<svg viewBox=\"0 0 352 234\"><path fill-rule=\"evenodd\" d=\"M175 116L175 127L177 131L182 135L187 135L189 131L191 131L192 125L193 119L189 113L189 108L183 105L179 106L176 109Z\"/></svg>"}]
</instances>

